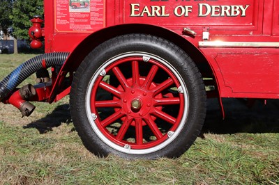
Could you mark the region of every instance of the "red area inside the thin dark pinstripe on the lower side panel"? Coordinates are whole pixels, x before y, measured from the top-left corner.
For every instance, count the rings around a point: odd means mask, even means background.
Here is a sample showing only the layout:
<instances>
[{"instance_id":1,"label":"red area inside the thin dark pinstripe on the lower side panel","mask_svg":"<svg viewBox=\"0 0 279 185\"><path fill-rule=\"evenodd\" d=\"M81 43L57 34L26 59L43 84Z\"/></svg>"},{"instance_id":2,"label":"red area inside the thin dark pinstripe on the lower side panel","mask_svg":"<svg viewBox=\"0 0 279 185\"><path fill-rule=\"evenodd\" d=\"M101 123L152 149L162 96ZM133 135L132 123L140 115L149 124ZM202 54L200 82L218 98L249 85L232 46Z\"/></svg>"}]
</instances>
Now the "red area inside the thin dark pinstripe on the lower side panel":
<instances>
[{"instance_id":1,"label":"red area inside the thin dark pinstripe on the lower side panel","mask_svg":"<svg viewBox=\"0 0 279 185\"><path fill-rule=\"evenodd\" d=\"M233 93L278 93L279 54L217 54L225 86Z\"/></svg>"}]
</instances>

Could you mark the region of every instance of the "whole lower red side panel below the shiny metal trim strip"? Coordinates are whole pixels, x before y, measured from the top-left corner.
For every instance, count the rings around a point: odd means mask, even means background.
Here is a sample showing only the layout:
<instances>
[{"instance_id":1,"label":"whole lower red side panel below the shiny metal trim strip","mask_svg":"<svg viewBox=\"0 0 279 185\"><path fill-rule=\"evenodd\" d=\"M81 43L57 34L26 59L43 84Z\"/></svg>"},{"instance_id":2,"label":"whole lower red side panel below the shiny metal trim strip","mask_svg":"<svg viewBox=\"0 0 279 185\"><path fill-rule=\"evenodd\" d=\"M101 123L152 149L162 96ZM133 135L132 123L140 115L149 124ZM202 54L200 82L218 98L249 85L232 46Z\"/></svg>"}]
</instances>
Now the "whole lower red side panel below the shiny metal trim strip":
<instances>
[{"instance_id":1,"label":"whole lower red side panel below the shiny metal trim strip","mask_svg":"<svg viewBox=\"0 0 279 185\"><path fill-rule=\"evenodd\" d=\"M221 97L279 98L279 52L272 48L202 48Z\"/></svg>"}]
</instances>

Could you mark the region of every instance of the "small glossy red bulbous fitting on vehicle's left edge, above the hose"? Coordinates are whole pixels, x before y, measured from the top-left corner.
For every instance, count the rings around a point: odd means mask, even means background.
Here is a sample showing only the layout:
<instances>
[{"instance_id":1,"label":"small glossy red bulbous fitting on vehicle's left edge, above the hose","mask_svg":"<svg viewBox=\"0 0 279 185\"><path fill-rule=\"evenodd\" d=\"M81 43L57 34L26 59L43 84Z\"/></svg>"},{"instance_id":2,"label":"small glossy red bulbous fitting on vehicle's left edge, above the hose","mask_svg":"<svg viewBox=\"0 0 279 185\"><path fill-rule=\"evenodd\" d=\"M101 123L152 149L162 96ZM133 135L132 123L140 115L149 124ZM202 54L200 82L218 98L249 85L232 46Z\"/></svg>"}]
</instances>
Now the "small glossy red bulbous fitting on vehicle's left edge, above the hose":
<instances>
[{"instance_id":1,"label":"small glossy red bulbous fitting on vehicle's left edge, above the hose","mask_svg":"<svg viewBox=\"0 0 279 185\"><path fill-rule=\"evenodd\" d=\"M45 36L45 30L42 28L43 19L40 19L40 16L36 15L31 19L33 25L29 29L29 36L32 39L31 48L38 49L43 46L40 41Z\"/></svg>"}]
</instances>

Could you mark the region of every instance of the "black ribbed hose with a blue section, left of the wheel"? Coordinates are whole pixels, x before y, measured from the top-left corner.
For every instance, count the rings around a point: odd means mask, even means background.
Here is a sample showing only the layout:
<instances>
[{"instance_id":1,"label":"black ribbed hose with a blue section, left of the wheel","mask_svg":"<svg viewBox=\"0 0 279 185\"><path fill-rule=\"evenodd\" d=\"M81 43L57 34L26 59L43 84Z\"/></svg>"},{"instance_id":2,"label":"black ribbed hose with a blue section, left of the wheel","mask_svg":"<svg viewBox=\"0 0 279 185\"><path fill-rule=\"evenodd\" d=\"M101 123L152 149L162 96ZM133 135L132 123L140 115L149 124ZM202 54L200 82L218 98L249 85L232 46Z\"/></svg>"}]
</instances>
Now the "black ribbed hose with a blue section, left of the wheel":
<instances>
[{"instance_id":1,"label":"black ribbed hose with a blue section, left of the wheel","mask_svg":"<svg viewBox=\"0 0 279 185\"><path fill-rule=\"evenodd\" d=\"M41 54L22 63L22 65L13 70L13 72L8 74L8 76L0 82L0 101L6 98L10 92L31 74L43 69L43 60L45 60L44 67L63 65L69 54L68 52Z\"/></svg>"}]
</instances>

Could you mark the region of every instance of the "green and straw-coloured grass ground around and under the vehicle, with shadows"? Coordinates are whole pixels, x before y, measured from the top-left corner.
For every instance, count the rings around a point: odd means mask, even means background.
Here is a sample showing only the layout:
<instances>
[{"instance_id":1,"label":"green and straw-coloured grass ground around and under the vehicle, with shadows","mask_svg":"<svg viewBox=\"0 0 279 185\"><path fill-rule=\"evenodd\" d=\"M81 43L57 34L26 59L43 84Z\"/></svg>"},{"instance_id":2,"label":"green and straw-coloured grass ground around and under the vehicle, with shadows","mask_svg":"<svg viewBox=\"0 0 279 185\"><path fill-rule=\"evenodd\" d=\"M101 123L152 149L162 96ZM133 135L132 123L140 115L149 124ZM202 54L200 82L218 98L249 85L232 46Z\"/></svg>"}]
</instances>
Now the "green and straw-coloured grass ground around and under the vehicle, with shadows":
<instances>
[{"instance_id":1,"label":"green and straw-coloured grass ground around and under the vehicle, with shadows","mask_svg":"<svg viewBox=\"0 0 279 185\"><path fill-rule=\"evenodd\" d=\"M0 55L0 79L32 55ZM27 79L31 83L35 77ZM25 81L24 83L27 83ZM99 159L71 122L68 97L29 118L0 104L0 184L279 184L279 102L248 109L210 100L203 133L178 159Z\"/></svg>"}]
</instances>

